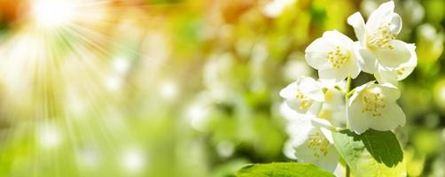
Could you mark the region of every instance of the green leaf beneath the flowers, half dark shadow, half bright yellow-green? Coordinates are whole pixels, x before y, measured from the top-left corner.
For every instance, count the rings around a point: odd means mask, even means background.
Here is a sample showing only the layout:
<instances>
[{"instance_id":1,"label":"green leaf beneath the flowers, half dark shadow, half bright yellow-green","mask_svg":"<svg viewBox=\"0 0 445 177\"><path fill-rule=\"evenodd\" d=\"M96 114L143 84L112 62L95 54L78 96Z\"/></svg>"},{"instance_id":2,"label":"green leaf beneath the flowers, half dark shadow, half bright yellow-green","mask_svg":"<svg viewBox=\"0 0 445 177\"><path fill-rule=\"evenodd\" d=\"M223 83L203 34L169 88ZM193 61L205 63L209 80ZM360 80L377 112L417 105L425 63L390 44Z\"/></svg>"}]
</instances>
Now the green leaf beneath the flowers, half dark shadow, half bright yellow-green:
<instances>
[{"instance_id":1,"label":"green leaf beneath the flowers, half dark shadow, half bright yellow-green","mask_svg":"<svg viewBox=\"0 0 445 177\"><path fill-rule=\"evenodd\" d=\"M332 132L334 146L355 176L406 176L402 148L391 131Z\"/></svg>"}]
</instances>

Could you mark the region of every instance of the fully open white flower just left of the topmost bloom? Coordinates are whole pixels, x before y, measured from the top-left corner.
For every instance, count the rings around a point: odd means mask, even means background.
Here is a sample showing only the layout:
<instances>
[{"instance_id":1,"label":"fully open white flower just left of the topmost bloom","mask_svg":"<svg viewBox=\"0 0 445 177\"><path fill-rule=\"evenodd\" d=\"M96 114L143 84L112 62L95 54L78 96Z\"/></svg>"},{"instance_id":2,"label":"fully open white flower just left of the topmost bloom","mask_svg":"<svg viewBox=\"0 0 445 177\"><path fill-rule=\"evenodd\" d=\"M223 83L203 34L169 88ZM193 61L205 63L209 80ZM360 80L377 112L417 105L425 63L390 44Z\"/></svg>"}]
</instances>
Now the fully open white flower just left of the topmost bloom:
<instances>
[{"instance_id":1,"label":"fully open white flower just left of the topmost bloom","mask_svg":"<svg viewBox=\"0 0 445 177\"><path fill-rule=\"evenodd\" d=\"M360 73L354 42L338 31L326 31L306 48L308 65L318 70L320 79L341 81Z\"/></svg>"}]
</instances>

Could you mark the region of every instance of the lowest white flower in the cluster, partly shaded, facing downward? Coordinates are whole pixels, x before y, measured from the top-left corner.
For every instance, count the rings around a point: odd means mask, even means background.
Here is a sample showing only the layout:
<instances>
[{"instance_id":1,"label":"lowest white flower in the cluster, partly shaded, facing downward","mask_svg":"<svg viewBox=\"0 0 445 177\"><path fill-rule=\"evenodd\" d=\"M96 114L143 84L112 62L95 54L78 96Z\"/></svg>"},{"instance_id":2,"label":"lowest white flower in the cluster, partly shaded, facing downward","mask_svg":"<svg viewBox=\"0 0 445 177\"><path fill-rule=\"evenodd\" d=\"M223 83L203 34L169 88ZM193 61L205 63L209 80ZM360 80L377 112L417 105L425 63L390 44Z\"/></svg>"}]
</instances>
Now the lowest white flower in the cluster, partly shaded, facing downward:
<instances>
[{"instance_id":1,"label":"lowest white flower in the cluster, partly shaded, facing downward","mask_svg":"<svg viewBox=\"0 0 445 177\"><path fill-rule=\"evenodd\" d=\"M313 163L333 172L339 163L339 154L333 146L331 124L325 119L303 115L289 123L286 142L287 151L293 150L291 158Z\"/></svg>"}]
</instances>

